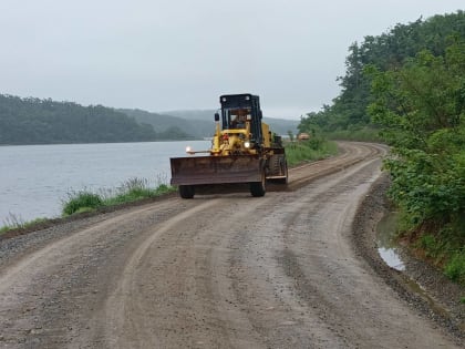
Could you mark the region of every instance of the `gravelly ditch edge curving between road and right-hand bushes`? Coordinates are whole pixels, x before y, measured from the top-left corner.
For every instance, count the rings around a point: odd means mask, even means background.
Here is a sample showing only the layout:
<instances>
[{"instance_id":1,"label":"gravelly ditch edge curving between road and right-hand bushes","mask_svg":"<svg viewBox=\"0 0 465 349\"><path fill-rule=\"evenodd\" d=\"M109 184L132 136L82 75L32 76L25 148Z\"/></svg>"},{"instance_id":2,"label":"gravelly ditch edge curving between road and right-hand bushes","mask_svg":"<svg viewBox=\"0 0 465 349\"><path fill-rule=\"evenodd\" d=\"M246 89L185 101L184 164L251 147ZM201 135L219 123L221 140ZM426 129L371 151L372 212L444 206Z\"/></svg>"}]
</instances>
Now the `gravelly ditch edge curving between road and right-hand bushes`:
<instances>
[{"instance_id":1,"label":"gravelly ditch edge curving between road and right-hand bushes","mask_svg":"<svg viewBox=\"0 0 465 349\"><path fill-rule=\"evenodd\" d=\"M360 203L355 217L351 226L351 243L355 254L363 258L370 268L379 275L405 302L418 311L421 316L427 317L435 324L440 325L446 333L452 335L458 342L465 338L465 328L463 325L462 305L457 305L457 309L451 309L451 304L445 304L438 298L441 295L448 296L444 289L458 289L455 284L446 279L441 273L426 265L425 263L415 259L406 250L403 250L403 257L410 267L423 269L417 274L430 274L430 279L434 278L435 283L431 283L427 290L421 288L417 283L421 277L412 275L412 273L403 273L389 267L380 257L376 246L376 224L389 212L390 204L386 198L386 191L390 186L390 178L386 173L383 173L370 187L365 198ZM436 287L437 289L432 289ZM423 289L415 291L415 289ZM431 294L430 294L431 292ZM423 294L423 295L422 295ZM433 296L434 294L434 296ZM446 295L444 295L446 294ZM440 307L434 307L431 300L440 304ZM461 324L462 322L462 324Z\"/></svg>"}]
</instances>

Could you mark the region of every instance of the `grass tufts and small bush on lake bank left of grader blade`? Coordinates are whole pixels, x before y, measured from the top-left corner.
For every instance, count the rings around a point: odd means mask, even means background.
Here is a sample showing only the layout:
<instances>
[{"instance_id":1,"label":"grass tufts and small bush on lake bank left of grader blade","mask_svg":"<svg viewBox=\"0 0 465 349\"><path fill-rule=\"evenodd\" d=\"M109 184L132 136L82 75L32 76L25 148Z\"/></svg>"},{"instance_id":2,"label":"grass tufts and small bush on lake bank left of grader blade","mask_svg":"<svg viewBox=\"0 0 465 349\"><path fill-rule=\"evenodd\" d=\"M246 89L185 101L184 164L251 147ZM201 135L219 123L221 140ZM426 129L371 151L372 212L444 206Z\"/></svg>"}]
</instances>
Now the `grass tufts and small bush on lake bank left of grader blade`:
<instances>
[{"instance_id":1,"label":"grass tufts and small bush on lake bank left of grader blade","mask_svg":"<svg viewBox=\"0 0 465 349\"><path fill-rule=\"evenodd\" d=\"M161 183L159 178L155 187L151 187L148 179L130 178L115 189L100 191L100 193L83 189L69 193L68 199L63 201L62 215L92 212L101 207L153 198L175 191L175 187Z\"/></svg>"}]
</instances>

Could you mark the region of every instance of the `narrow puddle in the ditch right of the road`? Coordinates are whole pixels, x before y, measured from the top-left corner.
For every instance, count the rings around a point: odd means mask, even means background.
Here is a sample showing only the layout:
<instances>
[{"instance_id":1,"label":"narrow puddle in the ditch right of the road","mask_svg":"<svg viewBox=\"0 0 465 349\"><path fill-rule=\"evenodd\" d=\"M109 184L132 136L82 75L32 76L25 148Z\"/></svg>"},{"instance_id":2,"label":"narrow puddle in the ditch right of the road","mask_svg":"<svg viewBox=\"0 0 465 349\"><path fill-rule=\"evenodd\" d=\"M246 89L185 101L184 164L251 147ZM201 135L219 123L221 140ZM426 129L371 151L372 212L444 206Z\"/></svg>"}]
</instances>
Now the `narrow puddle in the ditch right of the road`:
<instances>
[{"instance_id":1,"label":"narrow puddle in the ditch right of the road","mask_svg":"<svg viewBox=\"0 0 465 349\"><path fill-rule=\"evenodd\" d=\"M381 258L388 264L391 268L404 271L405 265L402 261L399 253L397 246L394 243L396 227L397 227L399 215L395 212L386 214L376 225L376 242L378 242L378 253Z\"/></svg>"}]
</instances>

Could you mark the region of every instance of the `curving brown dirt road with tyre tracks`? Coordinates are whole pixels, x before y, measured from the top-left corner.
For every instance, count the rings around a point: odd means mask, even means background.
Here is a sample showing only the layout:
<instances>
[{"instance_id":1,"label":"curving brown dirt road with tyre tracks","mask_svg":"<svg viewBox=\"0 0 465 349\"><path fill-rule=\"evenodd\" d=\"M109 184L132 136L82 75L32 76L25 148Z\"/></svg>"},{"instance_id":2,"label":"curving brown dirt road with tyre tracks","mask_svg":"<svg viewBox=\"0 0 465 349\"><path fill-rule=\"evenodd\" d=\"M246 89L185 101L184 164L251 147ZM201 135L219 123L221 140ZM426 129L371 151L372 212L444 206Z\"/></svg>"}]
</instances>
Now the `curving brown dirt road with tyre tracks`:
<instances>
[{"instance_id":1,"label":"curving brown dirt road with tyre tracks","mask_svg":"<svg viewBox=\"0 0 465 349\"><path fill-rule=\"evenodd\" d=\"M0 242L0 347L455 348L351 247L385 151L341 146L288 192L172 197Z\"/></svg>"}]
</instances>

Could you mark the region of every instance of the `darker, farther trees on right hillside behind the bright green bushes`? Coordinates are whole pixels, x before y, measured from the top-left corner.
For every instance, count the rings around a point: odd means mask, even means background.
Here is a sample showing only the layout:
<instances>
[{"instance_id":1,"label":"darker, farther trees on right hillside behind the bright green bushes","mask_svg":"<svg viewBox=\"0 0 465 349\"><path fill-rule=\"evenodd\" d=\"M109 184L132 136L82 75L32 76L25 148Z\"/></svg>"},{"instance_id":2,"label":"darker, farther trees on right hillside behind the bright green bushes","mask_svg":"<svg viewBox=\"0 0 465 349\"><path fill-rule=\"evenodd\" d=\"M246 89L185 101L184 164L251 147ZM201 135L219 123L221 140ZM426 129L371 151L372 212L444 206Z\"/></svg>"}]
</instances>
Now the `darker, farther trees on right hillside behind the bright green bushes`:
<instances>
[{"instance_id":1,"label":"darker, farther trees on right hillside behind the bright green bushes","mask_svg":"<svg viewBox=\"0 0 465 349\"><path fill-rule=\"evenodd\" d=\"M409 24L396 24L378 37L365 37L349 48L347 72L338 78L341 92L331 105L302 117L299 131L360 130L373 126L368 106L373 102L371 76L365 68L375 65L381 71L401 68L405 60L415 58L422 50L433 55L444 55L452 37L465 38L465 13L434 16Z\"/></svg>"}]
</instances>

